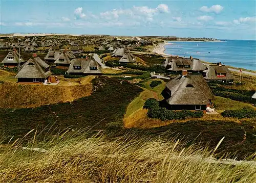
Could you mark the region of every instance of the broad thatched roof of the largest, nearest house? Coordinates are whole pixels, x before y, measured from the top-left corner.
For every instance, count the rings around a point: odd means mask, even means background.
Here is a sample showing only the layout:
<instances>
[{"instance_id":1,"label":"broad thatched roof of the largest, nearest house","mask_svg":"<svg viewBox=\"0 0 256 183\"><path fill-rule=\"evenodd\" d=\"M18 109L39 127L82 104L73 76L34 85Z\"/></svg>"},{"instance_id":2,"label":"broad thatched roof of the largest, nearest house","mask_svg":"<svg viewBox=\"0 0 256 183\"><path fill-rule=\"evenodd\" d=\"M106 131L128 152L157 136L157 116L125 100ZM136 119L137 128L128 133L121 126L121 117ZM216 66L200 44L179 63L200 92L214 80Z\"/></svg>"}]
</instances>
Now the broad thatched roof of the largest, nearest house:
<instances>
[{"instance_id":1,"label":"broad thatched roof of the largest, nearest house","mask_svg":"<svg viewBox=\"0 0 256 183\"><path fill-rule=\"evenodd\" d=\"M179 75L166 84L165 90L170 93L165 98L169 104L207 104L214 98L201 74Z\"/></svg>"}]
</instances>

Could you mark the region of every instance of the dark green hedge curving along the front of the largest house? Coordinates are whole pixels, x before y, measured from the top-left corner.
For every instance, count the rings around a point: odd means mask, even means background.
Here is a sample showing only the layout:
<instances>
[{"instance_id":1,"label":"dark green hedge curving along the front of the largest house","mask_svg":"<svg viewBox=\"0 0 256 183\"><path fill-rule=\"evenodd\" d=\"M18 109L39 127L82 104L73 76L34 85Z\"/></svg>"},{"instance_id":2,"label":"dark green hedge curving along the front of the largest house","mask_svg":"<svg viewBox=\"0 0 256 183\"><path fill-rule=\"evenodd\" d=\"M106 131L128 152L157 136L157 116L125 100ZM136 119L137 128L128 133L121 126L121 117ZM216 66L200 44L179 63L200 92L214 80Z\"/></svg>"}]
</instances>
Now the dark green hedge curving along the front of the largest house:
<instances>
[{"instance_id":1,"label":"dark green hedge curving along the front of the largest house","mask_svg":"<svg viewBox=\"0 0 256 183\"><path fill-rule=\"evenodd\" d=\"M203 117L204 113L203 111L170 111L166 108L159 107L159 102L154 99L150 98L147 99L144 103L145 109L148 109L147 115L150 118L158 118L161 120L173 120L173 119L186 119L186 118L201 118Z\"/></svg>"}]
</instances>

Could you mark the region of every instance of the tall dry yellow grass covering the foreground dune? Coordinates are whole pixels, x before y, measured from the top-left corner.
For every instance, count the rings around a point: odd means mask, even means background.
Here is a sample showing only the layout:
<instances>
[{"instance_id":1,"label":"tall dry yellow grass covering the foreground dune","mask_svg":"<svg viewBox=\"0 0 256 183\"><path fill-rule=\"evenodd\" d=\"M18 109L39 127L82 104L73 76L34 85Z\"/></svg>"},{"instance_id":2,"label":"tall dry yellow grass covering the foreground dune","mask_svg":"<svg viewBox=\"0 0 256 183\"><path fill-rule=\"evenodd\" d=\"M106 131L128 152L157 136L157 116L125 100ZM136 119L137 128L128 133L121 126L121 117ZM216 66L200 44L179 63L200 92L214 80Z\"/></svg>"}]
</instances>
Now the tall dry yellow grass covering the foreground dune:
<instances>
[{"instance_id":1,"label":"tall dry yellow grass covering the foreground dune","mask_svg":"<svg viewBox=\"0 0 256 183\"><path fill-rule=\"evenodd\" d=\"M34 133L34 132L31 132ZM63 133L37 142L37 132L0 146L0 182L255 182L255 162L215 160L214 152L179 140L132 134ZM25 148L30 147L29 148Z\"/></svg>"}]
</instances>

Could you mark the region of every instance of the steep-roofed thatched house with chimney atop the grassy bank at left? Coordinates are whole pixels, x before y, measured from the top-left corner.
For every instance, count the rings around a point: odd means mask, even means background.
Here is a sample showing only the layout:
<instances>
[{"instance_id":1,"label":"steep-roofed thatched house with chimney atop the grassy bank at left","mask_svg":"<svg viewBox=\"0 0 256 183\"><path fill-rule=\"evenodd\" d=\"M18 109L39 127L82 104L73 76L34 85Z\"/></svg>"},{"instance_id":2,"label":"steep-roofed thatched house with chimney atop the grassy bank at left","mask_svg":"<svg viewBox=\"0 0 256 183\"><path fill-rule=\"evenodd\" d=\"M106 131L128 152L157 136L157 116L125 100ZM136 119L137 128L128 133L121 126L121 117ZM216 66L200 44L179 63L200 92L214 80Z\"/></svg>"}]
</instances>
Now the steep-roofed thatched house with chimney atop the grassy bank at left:
<instances>
[{"instance_id":1,"label":"steep-roofed thatched house with chimney atop the grassy bank at left","mask_svg":"<svg viewBox=\"0 0 256 183\"><path fill-rule=\"evenodd\" d=\"M20 71L15 77L18 79L18 83L42 84L51 74L50 66L33 54L33 58L20 67Z\"/></svg>"}]
</instances>

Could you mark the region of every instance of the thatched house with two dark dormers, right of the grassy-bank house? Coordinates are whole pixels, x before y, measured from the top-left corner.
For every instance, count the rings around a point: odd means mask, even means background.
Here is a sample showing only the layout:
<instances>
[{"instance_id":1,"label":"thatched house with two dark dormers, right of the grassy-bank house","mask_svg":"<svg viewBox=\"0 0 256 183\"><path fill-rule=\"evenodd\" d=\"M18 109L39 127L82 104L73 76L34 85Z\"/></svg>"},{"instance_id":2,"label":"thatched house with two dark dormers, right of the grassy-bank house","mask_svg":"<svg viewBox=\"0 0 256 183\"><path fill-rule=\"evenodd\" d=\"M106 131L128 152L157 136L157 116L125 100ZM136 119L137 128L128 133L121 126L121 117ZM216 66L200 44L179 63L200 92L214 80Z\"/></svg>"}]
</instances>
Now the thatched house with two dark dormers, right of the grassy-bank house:
<instances>
[{"instance_id":1,"label":"thatched house with two dark dormers, right of the grassy-bank house","mask_svg":"<svg viewBox=\"0 0 256 183\"><path fill-rule=\"evenodd\" d=\"M68 69L73 75L101 75L101 66L92 59L73 59Z\"/></svg>"}]
</instances>

